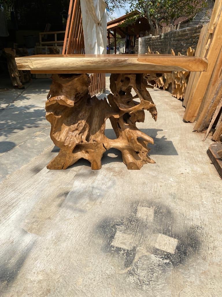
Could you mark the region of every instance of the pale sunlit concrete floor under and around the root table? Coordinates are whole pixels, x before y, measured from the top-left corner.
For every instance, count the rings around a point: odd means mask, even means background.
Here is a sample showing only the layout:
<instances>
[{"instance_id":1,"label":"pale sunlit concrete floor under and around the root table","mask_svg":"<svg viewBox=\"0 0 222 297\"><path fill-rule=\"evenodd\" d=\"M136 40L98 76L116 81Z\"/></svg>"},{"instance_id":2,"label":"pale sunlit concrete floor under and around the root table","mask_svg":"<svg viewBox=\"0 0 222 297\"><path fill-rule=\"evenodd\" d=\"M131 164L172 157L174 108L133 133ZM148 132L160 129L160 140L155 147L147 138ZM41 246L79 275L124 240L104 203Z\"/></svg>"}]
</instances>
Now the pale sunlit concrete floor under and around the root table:
<instances>
[{"instance_id":1,"label":"pale sunlit concrete floor under and around the root table","mask_svg":"<svg viewBox=\"0 0 222 297\"><path fill-rule=\"evenodd\" d=\"M0 93L0 296L222 296L222 182L181 101L151 91L157 122L138 127L156 164L111 149L101 170L47 170L49 84Z\"/></svg>"}]
</instances>

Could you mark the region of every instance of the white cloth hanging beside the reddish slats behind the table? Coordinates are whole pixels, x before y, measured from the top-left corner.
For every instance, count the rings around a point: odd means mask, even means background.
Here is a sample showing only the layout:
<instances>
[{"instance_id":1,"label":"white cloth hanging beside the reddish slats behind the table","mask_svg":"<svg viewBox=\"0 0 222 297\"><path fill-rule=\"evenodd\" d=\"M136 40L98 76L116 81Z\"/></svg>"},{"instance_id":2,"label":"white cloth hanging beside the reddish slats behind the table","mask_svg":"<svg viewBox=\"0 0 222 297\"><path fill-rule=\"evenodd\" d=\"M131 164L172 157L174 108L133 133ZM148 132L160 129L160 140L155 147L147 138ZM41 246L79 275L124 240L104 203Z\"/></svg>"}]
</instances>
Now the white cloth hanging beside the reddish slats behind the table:
<instances>
[{"instance_id":1,"label":"white cloth hanging beside the reddish slats behind the table","mask_svg":"<svg viewBox=\"0 0 222 297\"><path fill-rule=\"evenodd\" d=\"M80 0L86 54L106 54L107 21L104 0Z\"/></svg>"}]
</instances>

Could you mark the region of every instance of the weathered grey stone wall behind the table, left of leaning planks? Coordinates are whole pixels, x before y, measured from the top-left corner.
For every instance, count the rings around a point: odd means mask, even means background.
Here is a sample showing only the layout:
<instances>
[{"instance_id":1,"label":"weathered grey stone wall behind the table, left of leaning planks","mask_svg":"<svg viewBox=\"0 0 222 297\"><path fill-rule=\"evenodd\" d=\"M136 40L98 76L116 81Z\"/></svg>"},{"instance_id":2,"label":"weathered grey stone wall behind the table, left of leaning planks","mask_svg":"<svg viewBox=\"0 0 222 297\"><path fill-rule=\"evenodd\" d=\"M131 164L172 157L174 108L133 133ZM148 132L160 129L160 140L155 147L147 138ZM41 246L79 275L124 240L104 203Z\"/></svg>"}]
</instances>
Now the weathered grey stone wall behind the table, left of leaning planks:
<instances>
[{"instance_id":1,"label":"weathered grey stone wall behind the table, left of leaning planks","mask_svg":"<svg viewBox=\"0 0 222 297\"><path fill-rule=\"evenodd\" d=\"M170 31L158 36L141 37L139 41L141 46L138 46L138 39L136 40L136 53L147 53L149 46L151 52L170 54L172 48L176 55L178 52L185 55L189 46L196 50L201 28L202 25Z\"/></svg>"}]
</instances>

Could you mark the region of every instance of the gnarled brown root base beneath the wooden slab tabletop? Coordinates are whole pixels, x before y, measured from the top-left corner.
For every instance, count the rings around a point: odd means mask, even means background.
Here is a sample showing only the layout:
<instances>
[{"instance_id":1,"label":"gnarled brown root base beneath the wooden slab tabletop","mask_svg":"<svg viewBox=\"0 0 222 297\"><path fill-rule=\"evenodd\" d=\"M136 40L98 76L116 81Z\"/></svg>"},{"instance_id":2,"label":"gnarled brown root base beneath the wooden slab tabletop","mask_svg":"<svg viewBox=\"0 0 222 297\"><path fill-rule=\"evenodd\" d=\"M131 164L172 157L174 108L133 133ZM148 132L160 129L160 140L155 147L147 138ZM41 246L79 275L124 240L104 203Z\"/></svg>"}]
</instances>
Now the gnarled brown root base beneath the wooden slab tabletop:
<instances>
[{"instance_id":1,"label":"gnarled brown root base beneath the wooden slab tabletop","mask_svg":"<svg viewBox=\"0 0 222 297\"><path fill-rule=\"evenodd\" d=\"M144 122L145 109L157 119L146 78L143 74L111 74L112 94L108 95L108 103L89 95L87 74L54 74L47 96L46 119L52 125L51 139L60 151L47 168L66 169L83 158L89 160L92 169L100 169L102 155L110 148L122 152L128 169L155 163L147 155L147 144L153 144L153 139L136 128L136 122ZM136 92L134 97L132 89ZM136 98L140 103L133 101ZM108 118L117 137L114 140L104 135Z\"/></svg>"}]
</instances>

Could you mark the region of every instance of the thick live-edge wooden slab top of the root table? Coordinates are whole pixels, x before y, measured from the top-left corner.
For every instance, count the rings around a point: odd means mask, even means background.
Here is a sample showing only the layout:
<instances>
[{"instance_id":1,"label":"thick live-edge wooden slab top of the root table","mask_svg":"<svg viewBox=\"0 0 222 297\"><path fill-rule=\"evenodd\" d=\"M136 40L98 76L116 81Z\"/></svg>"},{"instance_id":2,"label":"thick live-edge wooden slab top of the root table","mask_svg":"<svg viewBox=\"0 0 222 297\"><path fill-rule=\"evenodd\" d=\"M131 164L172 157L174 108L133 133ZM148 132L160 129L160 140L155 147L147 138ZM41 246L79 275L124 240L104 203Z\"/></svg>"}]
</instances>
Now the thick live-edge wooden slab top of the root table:
<instances>
[{"instance_id":1,"label":"thick live-edge wooden slab top of the root table","mask_svg":"<svg viewBox=\"0 0 222 297\"><path fill-rule=\"evenodd\" d=\"M15 58L31 73L148 73L206 71L206 58L157 54L35 55Z\"/></svg>"}]
</instances>

